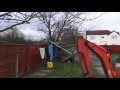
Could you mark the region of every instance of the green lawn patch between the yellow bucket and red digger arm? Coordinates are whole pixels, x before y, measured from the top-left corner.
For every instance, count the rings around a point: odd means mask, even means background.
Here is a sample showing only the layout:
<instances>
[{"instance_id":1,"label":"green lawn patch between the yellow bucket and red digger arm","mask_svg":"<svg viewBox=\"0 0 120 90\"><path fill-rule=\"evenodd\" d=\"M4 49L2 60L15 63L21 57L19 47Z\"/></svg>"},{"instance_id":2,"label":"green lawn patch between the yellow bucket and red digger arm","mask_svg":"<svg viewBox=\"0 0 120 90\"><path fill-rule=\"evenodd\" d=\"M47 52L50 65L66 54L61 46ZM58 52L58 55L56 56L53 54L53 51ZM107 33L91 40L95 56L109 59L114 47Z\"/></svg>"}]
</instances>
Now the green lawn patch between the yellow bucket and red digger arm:
<instances>
[{"instance_id":1,"label":"green lawn patch between the yellow bucket and red digger arm","mask_svg":"<svg viewBox=\"0 0 120 90\"><path fill-rule=\"evenodd\" d=\"M82 71L78 61L72 63L55 62L52 72L47 74L46 77L57 76L59 78L76 78L81 77Z\"/></svg>"}]
</instances>

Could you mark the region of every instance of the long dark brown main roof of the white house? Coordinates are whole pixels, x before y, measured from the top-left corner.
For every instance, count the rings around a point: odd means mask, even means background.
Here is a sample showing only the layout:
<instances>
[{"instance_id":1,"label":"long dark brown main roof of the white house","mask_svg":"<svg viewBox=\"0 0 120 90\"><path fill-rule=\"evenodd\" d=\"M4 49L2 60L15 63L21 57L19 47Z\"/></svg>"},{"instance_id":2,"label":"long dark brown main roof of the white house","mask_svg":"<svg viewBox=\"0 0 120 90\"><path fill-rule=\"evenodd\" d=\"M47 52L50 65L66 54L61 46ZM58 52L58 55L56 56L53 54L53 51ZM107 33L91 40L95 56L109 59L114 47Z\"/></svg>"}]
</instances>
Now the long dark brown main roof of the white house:
<instances>
[{"instance_id":1,"label":"long dark brown main roof of the white house","mask_svg":"<svg viewBox=\"0 0 120 90\"><path fill-rule=\"evenodd\" d=\"M111 31L109 30L96 30L96 31L86 31L87 35L109 35Z\"/></svg>"}]
</instances>

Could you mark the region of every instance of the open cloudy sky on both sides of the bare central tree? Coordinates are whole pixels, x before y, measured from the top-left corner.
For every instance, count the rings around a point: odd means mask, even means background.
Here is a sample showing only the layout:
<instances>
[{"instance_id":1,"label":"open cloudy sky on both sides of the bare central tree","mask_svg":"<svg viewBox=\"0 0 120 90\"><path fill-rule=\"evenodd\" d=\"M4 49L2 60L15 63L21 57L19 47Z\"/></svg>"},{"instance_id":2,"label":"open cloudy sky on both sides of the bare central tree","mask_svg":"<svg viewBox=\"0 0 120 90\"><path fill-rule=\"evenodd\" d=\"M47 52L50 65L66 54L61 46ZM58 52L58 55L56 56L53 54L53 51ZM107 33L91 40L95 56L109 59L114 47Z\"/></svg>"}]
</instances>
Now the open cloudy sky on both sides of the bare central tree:
<instances>
[{"instance_id":1,"label":"open cloudy sky on both sides of the bare central tree","mask_svg":"<svg viewBox=\"0 0 120 90\"><path fill-rule=\"evenodd\" d=\"M94 17L99 16L102 13L103 12L97 12L94 14ZM86 22L85 25L87 25L88 28L95 26L94 30L115 30L120 32L120 12L107 12L92 22ZM39 40L42 37L41 33L36 31L34 25L22 25L20 26L20 30L23 31L25 35L31 37L34 40Z\"/></svg>"}]
</instances>

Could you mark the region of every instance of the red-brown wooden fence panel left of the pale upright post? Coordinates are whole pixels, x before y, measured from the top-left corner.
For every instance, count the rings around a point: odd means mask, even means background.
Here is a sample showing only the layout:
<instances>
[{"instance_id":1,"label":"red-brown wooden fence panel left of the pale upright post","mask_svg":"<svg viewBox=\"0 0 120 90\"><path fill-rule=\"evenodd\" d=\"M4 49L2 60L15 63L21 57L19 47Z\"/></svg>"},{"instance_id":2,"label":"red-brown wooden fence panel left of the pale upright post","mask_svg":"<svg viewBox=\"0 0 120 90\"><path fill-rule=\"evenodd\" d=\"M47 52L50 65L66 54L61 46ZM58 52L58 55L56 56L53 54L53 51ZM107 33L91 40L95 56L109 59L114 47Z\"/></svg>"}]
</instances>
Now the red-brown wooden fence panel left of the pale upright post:
<instances>
[{"instance_id":1,"label":"red-brown wooden fence panel left of the pale upright post","mask_svg":"<svg viewBox=\"0 0 120 90\"><path fill-rule=\"evenodd\" d=\"M0 78L9 78L16 75L16 55L13 46L0 45Z\"/></svg>"}]
</instances>

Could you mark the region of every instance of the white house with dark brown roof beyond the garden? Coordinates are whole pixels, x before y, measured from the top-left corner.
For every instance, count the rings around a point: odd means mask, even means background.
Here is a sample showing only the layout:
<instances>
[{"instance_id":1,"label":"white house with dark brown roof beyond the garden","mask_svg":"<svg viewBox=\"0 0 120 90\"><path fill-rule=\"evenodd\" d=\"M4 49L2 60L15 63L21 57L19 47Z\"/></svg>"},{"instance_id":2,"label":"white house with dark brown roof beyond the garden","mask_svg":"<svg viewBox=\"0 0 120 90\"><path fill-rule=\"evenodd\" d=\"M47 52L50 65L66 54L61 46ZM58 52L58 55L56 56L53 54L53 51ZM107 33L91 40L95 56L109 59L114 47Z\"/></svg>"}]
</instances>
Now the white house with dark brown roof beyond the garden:
<instances>
[{"instance_id":1,"label":"white house with dark brown roof beyond the garden","mask_svg":"<svg viewBox=\"0 0 120 90\"><path fill-rule=\"evenodd\" d=\"M86 31L86 39L98 45L120 45L120 34L116 31Z\"/></svg>"}]
</instances>

